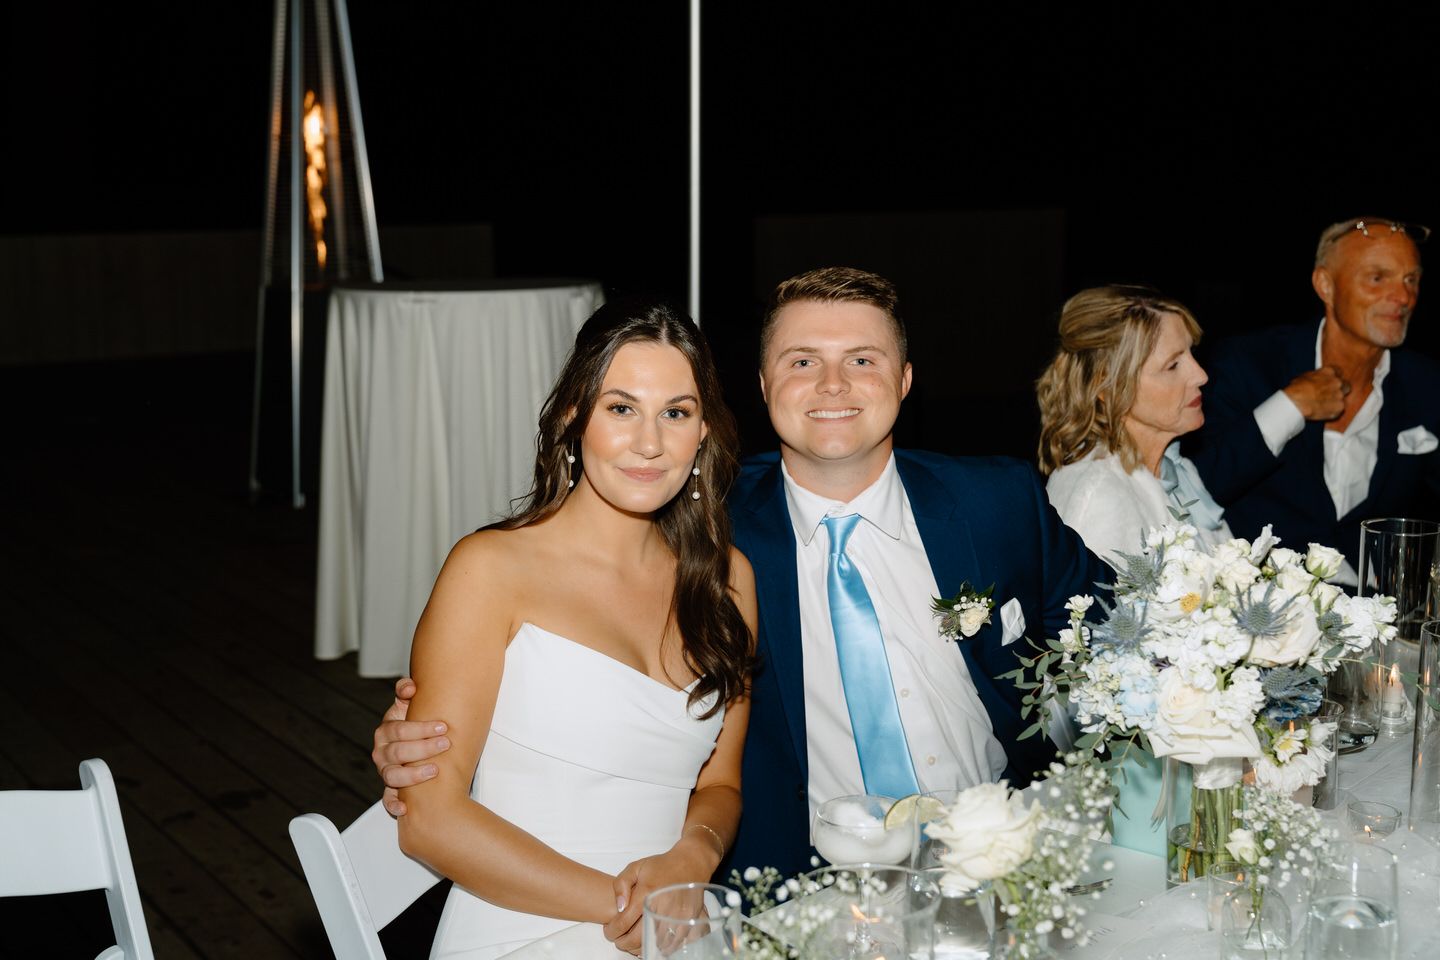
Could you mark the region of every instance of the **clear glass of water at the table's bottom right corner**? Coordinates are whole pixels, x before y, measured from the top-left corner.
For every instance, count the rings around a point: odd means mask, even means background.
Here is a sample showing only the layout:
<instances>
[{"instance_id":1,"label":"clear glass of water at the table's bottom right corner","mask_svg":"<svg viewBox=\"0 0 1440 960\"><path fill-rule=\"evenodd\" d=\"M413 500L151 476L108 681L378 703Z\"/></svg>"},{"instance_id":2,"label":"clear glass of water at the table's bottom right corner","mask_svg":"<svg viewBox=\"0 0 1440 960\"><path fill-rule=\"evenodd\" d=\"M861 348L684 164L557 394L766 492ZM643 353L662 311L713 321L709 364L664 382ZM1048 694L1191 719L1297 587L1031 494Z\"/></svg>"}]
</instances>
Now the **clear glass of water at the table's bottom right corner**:
<instances>
[{"instance_id":1,"label":"clear glass of water at the table's bottom right corner","mask_svg":"<svg viewBox=\"0 0 1440 960\"><path fill-rule=\"evenodd\" d=\"M1305 925L1306 960L1395 960L1400 950L1395 855L1374 843L1326 848Z\"/></svg>"}]
</instances>

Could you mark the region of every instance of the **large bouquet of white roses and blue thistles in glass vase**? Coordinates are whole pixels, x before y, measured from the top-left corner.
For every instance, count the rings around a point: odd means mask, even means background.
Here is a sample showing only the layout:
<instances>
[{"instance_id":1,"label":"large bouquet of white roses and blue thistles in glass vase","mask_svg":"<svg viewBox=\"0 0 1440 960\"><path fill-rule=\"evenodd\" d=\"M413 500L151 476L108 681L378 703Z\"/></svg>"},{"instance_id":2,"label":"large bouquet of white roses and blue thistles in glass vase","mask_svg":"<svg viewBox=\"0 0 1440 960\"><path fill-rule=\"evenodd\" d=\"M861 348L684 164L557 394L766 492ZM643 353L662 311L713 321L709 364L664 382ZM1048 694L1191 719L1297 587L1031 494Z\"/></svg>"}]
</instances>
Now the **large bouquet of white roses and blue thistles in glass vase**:
<instances>
[{"instance_id":1,"label":"large bouquet of white roses and blue thistles in glass vase","mask_svg":"<svg viewBox=\"0 0 1440 960\"><path fill-rule=\"evenodd\" d=\"M1038 708L1038 731L1070 710L1103 766L1148 750L1194 774L1185 823L1168 830L1171 879L1204 875L1227 859L1248 763L1259 786L1280 793L1316 783L1332 730L1315 720L1325 675L1394 635L1388 597L1349 597L1329 583L1338 551L1254 541L1207 550L1188 524L1145 535L1123 556L1103 619L1094 597L1073 597L1070 626L1007 676Z\"/></svg>"}]
</instances>

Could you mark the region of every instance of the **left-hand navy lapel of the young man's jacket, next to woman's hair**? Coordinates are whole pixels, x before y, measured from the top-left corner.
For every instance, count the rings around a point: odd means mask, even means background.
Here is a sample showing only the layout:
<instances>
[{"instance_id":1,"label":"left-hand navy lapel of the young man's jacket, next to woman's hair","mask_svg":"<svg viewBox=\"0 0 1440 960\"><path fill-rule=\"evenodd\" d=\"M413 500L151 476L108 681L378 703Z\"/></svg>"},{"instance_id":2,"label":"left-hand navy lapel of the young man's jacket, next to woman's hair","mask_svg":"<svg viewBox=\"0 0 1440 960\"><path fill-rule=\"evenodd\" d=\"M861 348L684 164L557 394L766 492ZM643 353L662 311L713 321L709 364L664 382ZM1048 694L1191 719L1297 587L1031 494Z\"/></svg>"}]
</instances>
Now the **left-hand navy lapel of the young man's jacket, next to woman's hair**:
<instances>
[{"instance_id":1,"label":"left-hand navy lapel of the young man's jacket, next to woman's hair","mask_svg":"<svg viewBox=\"0 0 1440 960\"><path fill-rule=\"evenodd\" d=\"M762 671L775 674L785 717L801 766L801 783L809 782L805 746L805 664L801 653L801 594L795 560L795 527L785 501L780 462L756 481L743 510L750 514L746 548L752 553L755 589L760 606Z\"/></svg>"}]
</instances>

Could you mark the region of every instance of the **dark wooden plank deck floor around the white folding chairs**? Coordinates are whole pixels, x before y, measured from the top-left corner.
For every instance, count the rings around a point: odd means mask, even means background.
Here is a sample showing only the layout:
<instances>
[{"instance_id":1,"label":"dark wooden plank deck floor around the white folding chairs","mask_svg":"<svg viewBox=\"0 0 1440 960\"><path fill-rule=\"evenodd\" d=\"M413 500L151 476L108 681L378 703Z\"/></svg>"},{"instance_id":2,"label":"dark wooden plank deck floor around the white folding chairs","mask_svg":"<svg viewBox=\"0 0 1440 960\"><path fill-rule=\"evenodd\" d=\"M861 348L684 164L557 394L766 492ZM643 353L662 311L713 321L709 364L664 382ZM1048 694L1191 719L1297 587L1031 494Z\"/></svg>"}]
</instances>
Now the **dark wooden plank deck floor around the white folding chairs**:
<instances>
[{"instance_id":1,"label":"dark wooden plank deck floor around the white folding chairs","mask_svg":"<svg viewBox=\"0 0 1440 960\"><path fill-rule=\"evenodd\" d=\"M311 656L315 508L248 502L249 394L248 356L0 368L0 789L109 764L163 960L331 956L287 823L379 796L390 682ZM392 957L426 954L436 900ZM23 956L112 941L98 894L0 923L43 931Z\"/></svg>"}]
</instances>

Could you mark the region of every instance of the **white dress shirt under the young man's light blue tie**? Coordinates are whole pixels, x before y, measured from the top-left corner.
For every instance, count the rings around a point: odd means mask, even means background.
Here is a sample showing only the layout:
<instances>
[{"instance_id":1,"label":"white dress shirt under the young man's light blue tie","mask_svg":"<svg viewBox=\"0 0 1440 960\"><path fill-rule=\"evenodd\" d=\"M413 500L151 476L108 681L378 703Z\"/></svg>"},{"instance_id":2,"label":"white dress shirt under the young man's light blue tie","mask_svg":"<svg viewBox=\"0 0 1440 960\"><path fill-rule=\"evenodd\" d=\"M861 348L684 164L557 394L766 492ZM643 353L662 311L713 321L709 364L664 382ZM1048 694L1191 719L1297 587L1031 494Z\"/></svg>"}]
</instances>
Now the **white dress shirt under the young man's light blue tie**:
<instances>
[{"instance_id":1,"label":"white dress shirt under the young man's light blue tie","mask_svg":"<svg viewBox=\"0 0 1440 960\"><path fill-rule=\"evenodd\" d=\"M953 640L940 636L939 622L930 615L939 587L894 456L880 479L848 504L804 489L783 465L780 469L795 525L811 815L831 797L865 792L829 620L829 531L822 528L827 515L864 518L845 543L845 556L865 581L880 620L888 679L920 789L958 790L999 779L1005 750L991 730L965 658L952 649ZM994 616L998 625L999 612Z\"/></svg>"}]
</instances>

